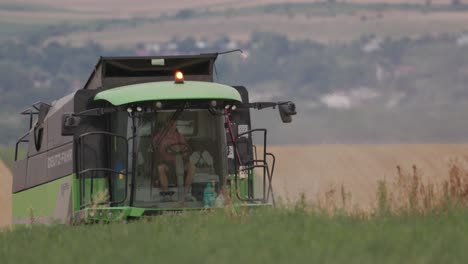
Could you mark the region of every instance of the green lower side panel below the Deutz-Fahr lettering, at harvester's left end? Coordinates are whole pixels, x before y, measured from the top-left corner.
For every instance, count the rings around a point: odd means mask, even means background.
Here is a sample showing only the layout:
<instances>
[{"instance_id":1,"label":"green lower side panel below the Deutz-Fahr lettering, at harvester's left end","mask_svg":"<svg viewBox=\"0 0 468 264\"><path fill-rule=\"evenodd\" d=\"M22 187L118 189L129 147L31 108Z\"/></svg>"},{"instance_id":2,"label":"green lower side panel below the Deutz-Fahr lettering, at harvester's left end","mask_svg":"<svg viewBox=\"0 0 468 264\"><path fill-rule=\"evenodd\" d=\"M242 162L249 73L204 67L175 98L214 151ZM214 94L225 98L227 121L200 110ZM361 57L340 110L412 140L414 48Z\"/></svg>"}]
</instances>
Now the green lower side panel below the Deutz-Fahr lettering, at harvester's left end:
<instances>
[{"instance_id":1,"label":"green lower side panel below the Deutz-Fahr lettering, at harvester's left end","mask_svg":"<svg viewBox=\"0 0 468 264\"><path fill-rule=\"evenodd\" d=\"M64 186L70 188L72 175L13 194L13 218L54 217ZM68 183L68 184L67 184ZM67 184L67 185L65 185Z\"/></svg>"}]
</instances>

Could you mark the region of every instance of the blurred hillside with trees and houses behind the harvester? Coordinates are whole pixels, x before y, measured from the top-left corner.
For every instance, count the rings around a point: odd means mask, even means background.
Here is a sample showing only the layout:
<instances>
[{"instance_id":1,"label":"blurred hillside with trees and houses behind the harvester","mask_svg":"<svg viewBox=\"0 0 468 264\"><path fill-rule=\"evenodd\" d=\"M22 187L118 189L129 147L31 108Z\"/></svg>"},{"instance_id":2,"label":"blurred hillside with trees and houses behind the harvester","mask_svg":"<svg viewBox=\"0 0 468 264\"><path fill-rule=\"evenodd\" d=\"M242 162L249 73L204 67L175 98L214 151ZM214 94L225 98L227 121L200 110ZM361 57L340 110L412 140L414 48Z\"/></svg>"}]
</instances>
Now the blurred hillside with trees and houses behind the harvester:
<instances>
[{"instance_id":1,"label":"blurred hillside with trees and houses behind the harvester","mask_svg":"<svg viewBox=\"0 0 468 264\"><path fill-rule=\"evenodd\" d=\"M275 144L468 139L468 1L0 1L0 145L18 112L80 89L99 56L223 55L217 81L289 99Z\"/></svg>"}]
</instances>

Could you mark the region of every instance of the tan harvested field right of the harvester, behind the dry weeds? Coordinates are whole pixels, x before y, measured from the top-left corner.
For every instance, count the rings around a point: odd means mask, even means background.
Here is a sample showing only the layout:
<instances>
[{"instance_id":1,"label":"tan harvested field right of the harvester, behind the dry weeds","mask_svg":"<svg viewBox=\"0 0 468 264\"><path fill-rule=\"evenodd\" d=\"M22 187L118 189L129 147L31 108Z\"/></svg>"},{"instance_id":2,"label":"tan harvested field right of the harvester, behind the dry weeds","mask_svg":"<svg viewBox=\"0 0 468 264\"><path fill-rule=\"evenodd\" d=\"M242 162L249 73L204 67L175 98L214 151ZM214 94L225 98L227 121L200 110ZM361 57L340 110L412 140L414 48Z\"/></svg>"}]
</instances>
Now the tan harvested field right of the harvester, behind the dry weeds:
<instances>
[{"instance_id":1,"label":"tan harvested field right of the harvester, behind the dry weeds","mask_svg":"<svg viewBox=\"0 0 468 264\"><path fill-rule=\"evenodd\" d=\"M272 146L277 165L273 186L275 194L295 200L324 200L334 192L340 203L341 186L350 193L348 205L361 209L375 205L377 183L397 177L397 166L410 173L415 165L423 181L447 179L449 165L468 161L468 144L414 145L304 145Z\"/></svg>"}]
</instances>

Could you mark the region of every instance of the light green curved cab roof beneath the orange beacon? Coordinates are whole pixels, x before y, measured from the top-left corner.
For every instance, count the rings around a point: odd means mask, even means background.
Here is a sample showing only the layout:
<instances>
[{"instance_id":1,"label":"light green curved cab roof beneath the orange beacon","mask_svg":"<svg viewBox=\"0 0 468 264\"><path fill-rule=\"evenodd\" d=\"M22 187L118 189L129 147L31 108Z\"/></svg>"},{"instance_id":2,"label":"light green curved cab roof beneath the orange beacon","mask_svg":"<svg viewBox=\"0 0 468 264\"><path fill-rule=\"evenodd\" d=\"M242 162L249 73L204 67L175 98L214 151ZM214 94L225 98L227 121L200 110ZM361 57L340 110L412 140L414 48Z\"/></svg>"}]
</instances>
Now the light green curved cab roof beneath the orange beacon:
<instances>
[{"instance_id":1,"label":"light green curved cab roof beneath the orange beacon","mask_svg":"<svg viewBox=\"0 0 468 264\"><path fill-rule=\"evenodd\" d=\"M241 102L239 92L227 85L212 82L170 81L121 86L102 91L94 100L105 100L118 106L133 102L155 100L224 99Z\"/></svg>"}]
</instances>

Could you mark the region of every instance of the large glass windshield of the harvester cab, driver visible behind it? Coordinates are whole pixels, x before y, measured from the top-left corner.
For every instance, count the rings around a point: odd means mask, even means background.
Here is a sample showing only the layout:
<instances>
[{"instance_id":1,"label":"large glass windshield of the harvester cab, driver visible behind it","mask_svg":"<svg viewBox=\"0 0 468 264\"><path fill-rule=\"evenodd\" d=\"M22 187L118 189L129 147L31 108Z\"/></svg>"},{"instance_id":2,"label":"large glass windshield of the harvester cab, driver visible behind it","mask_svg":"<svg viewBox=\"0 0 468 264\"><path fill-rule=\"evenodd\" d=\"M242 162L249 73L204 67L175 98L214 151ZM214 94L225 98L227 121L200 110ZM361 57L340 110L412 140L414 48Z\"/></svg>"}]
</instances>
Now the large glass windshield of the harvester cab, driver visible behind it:
<instances>
[{"instance_id":1,"label":"large glass windshield of the harvester cab, driver visible behind it","mask_svg":"<svg viewBox=\"0 0 468 264\"><path fill-rule=\"evenodd\" d=\"M207 184L218 190L226 175L224 119L208 110L136 113L133 206L203 206ZM131 131L131 129L129 129Z\"/></svg>"}]
</instances>

